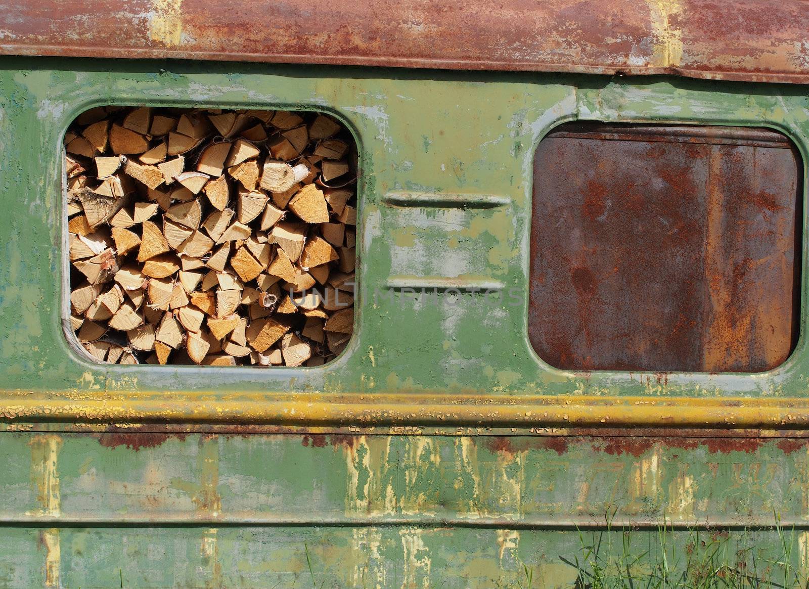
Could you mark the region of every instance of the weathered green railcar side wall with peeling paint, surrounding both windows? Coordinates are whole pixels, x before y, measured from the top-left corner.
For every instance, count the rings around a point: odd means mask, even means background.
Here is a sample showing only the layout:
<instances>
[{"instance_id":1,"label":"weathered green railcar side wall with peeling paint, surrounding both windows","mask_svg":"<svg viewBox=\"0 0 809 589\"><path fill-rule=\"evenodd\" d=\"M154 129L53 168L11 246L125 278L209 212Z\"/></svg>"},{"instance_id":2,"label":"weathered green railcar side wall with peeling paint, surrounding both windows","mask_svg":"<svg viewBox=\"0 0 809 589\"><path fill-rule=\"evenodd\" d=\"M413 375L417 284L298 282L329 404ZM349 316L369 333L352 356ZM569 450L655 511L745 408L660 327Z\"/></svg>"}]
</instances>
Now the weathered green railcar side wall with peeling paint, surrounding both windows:
<instances>
[{"instance_id":1,"label":"weathered green railcar side wall with peeling paint, surrounding both windows","mask_svg":"<svg viewBox=\"0 0 809 589\"><path fill-rule=\"evenodd\" d=\"M200 369L74 352L60 138L97 104L323 109L354 130L361 265L341 358ZM685 550L685 528L719 527L734 563L786 552L805 574L809 443L760 430L807 420L803 335L760 375L581 374L531 350L532 155L575 118L769 125L807 153L797 86L5 57L0 587L524 587L523 565L563 587L605 518L637 528L611 545L654 554L667 522ZM487 398L514 423L491 421ZM324 422L312 407L332 400L345 418ZM703 400L727 405L700 429ZM689 430L648 429L686 414Z\"/></svg>"}]
</instances>

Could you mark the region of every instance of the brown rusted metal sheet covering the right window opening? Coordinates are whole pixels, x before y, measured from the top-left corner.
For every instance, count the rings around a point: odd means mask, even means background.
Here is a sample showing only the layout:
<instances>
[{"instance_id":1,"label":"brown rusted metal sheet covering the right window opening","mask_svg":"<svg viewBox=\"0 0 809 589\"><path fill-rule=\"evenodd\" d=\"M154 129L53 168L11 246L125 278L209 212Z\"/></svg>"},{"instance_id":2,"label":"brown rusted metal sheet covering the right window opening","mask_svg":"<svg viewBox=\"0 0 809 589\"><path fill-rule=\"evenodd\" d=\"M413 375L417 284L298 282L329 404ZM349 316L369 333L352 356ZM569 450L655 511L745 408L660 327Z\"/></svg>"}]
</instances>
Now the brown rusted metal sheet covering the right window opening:
<instances>
[{"instance_id":1,"label":"brown rusted metal sheet covering the right window opening","mask_svg":"<svg viewBox=\"0 0 809 589\"><path fill-rule=\"evenodd\" d=\"M798 337L798 157L765 129L551 133L535 160L540 357L579 370L781 364Z\"/></svg>"}]
</instances>

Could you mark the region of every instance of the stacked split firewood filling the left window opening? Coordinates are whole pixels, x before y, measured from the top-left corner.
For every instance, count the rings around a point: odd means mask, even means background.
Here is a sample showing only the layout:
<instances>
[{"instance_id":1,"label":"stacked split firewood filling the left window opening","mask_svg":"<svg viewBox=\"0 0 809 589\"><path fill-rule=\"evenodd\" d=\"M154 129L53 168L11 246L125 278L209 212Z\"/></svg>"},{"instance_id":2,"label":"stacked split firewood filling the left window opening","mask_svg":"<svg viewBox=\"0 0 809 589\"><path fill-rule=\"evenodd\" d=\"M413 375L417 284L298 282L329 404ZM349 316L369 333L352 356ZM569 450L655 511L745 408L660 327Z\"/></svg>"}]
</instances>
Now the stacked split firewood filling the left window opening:
<instances>
[{"instance_id":1,"label":"stacked split firewood filling the left window opening","mask_svg":"<svg viewBox=\"0 0 809 589\"><path fill-rule=\"evenodd\" d=\"M337 121L94 108L65 146L71 321L92 356L295 367L343 350L356 150Z\"/></svg>"}]
</instances>

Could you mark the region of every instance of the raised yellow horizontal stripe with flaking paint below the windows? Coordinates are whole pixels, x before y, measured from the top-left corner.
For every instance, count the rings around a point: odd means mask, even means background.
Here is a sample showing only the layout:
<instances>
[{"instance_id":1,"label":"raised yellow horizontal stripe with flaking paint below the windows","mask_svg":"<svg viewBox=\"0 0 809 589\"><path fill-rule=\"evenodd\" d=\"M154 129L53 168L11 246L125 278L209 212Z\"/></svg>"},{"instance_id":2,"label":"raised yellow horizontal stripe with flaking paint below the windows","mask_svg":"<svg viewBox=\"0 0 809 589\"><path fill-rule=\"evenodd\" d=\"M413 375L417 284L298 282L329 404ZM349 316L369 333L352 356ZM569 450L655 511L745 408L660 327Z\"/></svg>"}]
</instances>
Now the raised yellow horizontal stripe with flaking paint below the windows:
<instances>
[{"instance_id":1,"label":"raised yellow horizontal stripe with flaking paint below the windows","mask_svg":"<svg viewBox=\"0 0 809 589\"><path fill-rule=\"evenodd\" d=\"M169 398L166 398L169 397ZM13 421L757 427L809 425L809 399L319 393L0 392Z\"/></svg>"}]
</instances>

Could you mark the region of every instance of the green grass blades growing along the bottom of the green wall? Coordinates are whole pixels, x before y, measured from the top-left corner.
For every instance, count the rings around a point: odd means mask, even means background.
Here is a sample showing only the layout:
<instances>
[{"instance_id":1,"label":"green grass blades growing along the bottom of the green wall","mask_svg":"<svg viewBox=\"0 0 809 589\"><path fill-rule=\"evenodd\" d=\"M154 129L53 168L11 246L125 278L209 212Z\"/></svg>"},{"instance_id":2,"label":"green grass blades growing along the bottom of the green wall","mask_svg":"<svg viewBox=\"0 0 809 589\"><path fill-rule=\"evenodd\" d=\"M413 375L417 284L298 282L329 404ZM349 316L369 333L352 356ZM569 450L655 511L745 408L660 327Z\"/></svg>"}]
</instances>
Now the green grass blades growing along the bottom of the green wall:
<instances>
[{"instance_id":1,"label":"green grass blades growing along the bottom of the green wall","mask_svg":"<svg viewBox=\"0 0 809 589\"><path fill-rule=\"evenodd\" d=\"M807 571L799 568L805 563L798 555L798 532L783 528L777 515L769 528L683 529L664 521L650 533L613 527L616 511L598 528L577 529L576 549L557 556L570 567L572 582L542 578L542 567L518 561L519 571L493 581L491 589L809 589ZM303 549L312 589L324 589L306 543ZM548 562L549 555L542 560ZM442 589L445 583L446 578L432 580L426 587ZM361 587L354 589L366 589L364 570Z\"/></svg>"}]
</instances>

